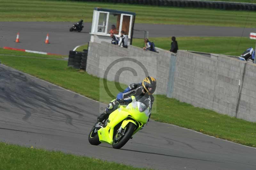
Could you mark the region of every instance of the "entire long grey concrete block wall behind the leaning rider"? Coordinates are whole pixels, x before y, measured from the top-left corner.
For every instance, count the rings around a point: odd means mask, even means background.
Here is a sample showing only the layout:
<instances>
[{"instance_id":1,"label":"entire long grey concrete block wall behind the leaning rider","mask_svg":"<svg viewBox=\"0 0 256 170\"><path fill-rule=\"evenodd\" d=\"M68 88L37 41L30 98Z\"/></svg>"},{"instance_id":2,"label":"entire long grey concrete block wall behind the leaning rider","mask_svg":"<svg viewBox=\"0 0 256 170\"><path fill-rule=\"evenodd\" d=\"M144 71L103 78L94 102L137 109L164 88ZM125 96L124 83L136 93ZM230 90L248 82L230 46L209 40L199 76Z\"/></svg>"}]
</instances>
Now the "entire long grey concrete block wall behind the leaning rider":
<instances>
[{"instance_id":1,"label":"entire long grey concrete block wall behind the leaning rider","mask_svg":"<svg viewBox=\"0 0 256 170\"><path fill-rule=\"evenodd\" d=\"M99 59L102 56L106 57ZM155 53L134 46L125 49L102 42L89 44L86 71L102 78L106 66L113 60L109 61L111 56L135 56L135 59L151 68L148 69L149 75L157 79L157 94L256 122L255 64L225 55L212 54L207 57L184 50L174 54L161 49L159 53ZM156 63L154 59L157 60ZM113 73L124 66L125 64L113 66ZM140 69L138 65L131 66L135 70ZM107 79L113 81L114 75L110 74ZM142 71L139 71L137 79L127 71L125 75L120 75L120 82L129 85L140 82L144 77Z\"/></svg>"}]
</instances>

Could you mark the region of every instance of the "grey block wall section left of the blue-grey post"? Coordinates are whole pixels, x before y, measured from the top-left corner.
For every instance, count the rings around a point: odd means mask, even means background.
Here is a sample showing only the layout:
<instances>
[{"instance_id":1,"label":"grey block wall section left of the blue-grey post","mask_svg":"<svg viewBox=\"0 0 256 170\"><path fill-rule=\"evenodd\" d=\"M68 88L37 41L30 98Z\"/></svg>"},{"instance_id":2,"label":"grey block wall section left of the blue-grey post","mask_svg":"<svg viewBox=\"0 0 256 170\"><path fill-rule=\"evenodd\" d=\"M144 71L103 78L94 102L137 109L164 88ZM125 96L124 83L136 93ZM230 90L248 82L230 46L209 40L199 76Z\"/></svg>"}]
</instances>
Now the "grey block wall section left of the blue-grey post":
<instances>
[{"instance_id":1,"label":"grey block wall section left of the blue-grey post","mask_svg":"<svg viewBox=\"0 0 256 170\"><path fill-rule=\"evenodd\" d=\"M165 50L159 50L159 53L156 53L145 51L135 46L128 46L128 49L126 49L106 42L101 42L101 44L90 42L86 72L103 78L107 67L113 60L117 58L133 57L146 67L150 76L162 80L157 82L156 93L166 94L171 54L171 52ZM113 58L116 56L118 57ZM117 71L127 66L134 68L138 75L134 76L131 71L124 71L123 75L120 75L119 82L129 85L134 82L141 82L145 78L146 75L139 63L136 64L133 61L125 61L114 65L111 68L111 72L108 73L107 79L114 81Z\"/></svg>"}]
</instances>

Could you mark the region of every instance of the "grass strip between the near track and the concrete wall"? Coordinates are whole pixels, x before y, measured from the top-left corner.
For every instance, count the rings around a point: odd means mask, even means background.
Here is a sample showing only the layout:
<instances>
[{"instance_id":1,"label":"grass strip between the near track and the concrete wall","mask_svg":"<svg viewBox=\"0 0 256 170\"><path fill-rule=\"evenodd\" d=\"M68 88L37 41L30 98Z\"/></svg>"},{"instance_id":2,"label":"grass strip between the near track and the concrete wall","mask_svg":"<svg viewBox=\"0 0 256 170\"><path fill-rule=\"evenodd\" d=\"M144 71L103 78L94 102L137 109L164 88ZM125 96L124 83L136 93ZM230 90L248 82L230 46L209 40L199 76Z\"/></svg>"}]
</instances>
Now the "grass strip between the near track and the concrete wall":
<instances>
[{"instance_id":1,"label":"grass strip between the near track and the concrete wall","mask_svg":"<svg viewBox=\"0 0 256 170\"><path fill-rule=\"evenodd\" d=\"M7 66L70 89L94 100L100 100L104 103L108 103L111 100L108 95L105 95L106 92L104 92L100 85L102 84L102 79L89 75L84 71L81 72L76 69L67 68L67 61L11 56L2 56L0 59ZM108 87L112 94L115 95L118 90L114 88L115 85L113 83L108 81ZM124 86L122 85L122 87ZM256 123L194 107L163 95L155 95L155 102L153 106L156 109L152 112L151 116L154 120L256 147Z\"/></svg>"}]
</instances>

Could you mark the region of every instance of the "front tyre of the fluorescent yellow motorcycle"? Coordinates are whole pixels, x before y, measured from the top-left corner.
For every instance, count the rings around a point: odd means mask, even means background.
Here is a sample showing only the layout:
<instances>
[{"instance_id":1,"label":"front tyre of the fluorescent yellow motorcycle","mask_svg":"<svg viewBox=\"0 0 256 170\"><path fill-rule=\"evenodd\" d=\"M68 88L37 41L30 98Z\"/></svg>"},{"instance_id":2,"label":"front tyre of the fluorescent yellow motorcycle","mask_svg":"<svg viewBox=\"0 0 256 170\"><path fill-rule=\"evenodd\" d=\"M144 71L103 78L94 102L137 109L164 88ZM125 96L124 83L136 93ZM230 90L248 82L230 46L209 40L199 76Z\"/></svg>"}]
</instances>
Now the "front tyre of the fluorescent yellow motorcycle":
<instances>
[{"instance_id":1,"label":"front tyre of the fluorescent yellow motorcycle","mask_svg":"<svg viewBox=\"0 0 256 170\"><path fill-rule=\"evenodd\" d=\"M126 127L123 129L124 134L121 133L122 135L121 137L120 137L120 133L116 132L115 137L113 139L112 147L115 149L122 148L125 145L125 143L127 143L129 139L132 137L132 134L135 128L136 128L136 125L133 124L132 122L129 122L126 125Z\"/></svg>"}]
</instances>

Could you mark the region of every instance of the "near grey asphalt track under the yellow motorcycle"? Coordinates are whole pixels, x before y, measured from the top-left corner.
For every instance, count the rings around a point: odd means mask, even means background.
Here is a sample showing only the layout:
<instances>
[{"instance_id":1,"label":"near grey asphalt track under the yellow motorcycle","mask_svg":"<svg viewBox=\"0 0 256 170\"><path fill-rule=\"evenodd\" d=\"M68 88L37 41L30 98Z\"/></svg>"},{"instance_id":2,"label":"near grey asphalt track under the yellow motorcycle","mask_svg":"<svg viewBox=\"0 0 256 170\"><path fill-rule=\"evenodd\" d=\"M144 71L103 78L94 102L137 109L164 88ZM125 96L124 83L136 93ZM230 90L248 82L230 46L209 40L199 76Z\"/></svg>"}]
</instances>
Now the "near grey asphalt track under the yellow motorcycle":
<instances>
[{"instance_id":1,"label":"near grey asphalt track under the yellow motorcycle","mask_svg":"<svg viewBox=\"0 0 256 170\"><path fill-rule=\"evenodd\" d=\"M90 145L88 133L104 104L10 67L1 65L0 73L0 141L136 167L256 169L254 148L153 120L120 150Z\"/></svg>"}]
</instances>

